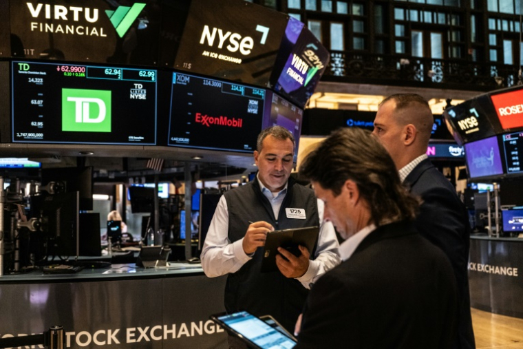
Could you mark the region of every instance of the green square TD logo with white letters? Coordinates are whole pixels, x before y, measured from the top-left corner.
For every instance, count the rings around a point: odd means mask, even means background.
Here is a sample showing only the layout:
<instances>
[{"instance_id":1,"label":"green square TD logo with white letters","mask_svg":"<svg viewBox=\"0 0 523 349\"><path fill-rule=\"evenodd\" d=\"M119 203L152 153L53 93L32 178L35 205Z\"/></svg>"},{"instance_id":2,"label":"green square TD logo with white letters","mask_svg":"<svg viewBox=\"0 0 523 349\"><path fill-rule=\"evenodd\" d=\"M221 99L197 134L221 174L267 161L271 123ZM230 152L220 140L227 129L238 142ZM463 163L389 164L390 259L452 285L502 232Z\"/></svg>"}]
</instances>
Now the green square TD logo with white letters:
<instances>
[{"instance_id":1,"label":"green square TD logo with white letters","mask_svg":"<svg viewBox=\"0 0 523 349\"><path fill-rule=\"evenodd\" d=\"M111 131L111 91L62 89L62 131Z\"/></svg>"}]
</instances>

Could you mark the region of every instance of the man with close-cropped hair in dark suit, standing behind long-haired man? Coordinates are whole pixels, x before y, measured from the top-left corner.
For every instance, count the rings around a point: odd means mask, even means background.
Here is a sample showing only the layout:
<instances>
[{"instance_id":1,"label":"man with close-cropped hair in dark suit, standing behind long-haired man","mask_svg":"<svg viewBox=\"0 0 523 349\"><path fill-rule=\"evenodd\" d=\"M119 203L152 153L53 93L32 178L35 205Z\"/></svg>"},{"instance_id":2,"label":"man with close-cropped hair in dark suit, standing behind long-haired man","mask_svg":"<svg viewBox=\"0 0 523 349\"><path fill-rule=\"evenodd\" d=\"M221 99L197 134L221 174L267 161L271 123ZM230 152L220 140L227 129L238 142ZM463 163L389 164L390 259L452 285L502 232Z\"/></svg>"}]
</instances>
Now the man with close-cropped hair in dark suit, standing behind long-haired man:
<instances>
[{"instance_id":1,"label":"man with close-cropped hair in dark suit, standing behind long-haired man","mask_svg":"<svg viewBox=\"0 0 523 349\"><path fill-rule=\"evenodd\" d=\"M458 337L452 348L476 348L467 274L471 227L456 189L427 157L433 124L431 109L423 97L394 94L381 102L372 133L391 155L403 183L423 199L416 228L441 248L452 264L460 306Z\"/></svg>"}]
</instances>

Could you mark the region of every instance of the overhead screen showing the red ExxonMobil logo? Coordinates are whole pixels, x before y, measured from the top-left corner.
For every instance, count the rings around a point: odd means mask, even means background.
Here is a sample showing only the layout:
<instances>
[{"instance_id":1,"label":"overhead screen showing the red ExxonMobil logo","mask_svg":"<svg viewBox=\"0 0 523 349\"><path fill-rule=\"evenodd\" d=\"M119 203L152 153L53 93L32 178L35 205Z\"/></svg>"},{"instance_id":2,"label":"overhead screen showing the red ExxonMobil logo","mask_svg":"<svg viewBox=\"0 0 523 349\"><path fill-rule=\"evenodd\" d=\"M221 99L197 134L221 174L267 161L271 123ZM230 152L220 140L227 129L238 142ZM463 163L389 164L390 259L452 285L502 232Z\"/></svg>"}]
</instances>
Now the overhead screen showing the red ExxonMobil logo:
<instances>
[{"instance_id":1,"label":"overhead screen showing the red ExxonMobil logo","mask_svg":"<svg viewBox=\"0 0 523 349\"><path fill-rule=\"evenodd\" d=\"M252 153L265 89L173 73L168 145Z\"/></svg>"}]
</instances>

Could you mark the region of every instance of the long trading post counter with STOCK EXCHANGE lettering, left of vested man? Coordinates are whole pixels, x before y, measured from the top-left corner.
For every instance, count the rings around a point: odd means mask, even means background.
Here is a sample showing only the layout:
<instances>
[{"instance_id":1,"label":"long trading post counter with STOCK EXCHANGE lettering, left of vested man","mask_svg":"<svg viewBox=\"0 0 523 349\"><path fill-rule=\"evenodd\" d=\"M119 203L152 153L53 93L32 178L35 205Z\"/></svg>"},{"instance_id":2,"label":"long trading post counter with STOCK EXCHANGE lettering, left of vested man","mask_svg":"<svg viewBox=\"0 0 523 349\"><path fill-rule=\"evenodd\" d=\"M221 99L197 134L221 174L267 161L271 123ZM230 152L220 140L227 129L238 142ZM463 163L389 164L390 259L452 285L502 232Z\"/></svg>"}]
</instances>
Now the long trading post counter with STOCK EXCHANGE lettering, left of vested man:
<instances>
[{"instance_id":1,"label":"long trading post counter with STOCK EXCHANGE lettering, left of vested man","mask_svg":"<svg viewBox=\"0 0 523 349\"><path fill-rule=\"evenodd\" d=\"M182 263L4 275L0 337L63 326L66 348L227 348L225 332L209 320L224 311L225 280Z\"/></svg>"}]
</instances>

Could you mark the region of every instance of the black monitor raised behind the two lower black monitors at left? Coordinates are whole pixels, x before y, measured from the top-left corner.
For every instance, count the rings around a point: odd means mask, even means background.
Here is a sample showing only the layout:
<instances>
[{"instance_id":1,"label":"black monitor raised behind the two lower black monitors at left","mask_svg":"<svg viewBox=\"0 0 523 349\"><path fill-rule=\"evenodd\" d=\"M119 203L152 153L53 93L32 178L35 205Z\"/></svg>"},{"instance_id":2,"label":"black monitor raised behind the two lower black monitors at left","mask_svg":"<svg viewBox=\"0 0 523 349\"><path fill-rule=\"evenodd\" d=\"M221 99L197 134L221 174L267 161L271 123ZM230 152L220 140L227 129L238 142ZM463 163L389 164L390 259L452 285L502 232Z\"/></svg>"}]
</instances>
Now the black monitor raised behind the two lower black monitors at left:
<instances>
[{"instance_id":1,"label":"black monitor raised behind the two lower black monitors at left","mask_svg":"<svg viewBox=\"0 0 523 349\"><path fill-rule=\"evenodd\" d=\"M61 169L43 169L42 185L50 182L58 184L59 192L80 193L80 209L89 211L93 209L93 168L92 167L66 167Z\"/></svg>"}]
</instances>

